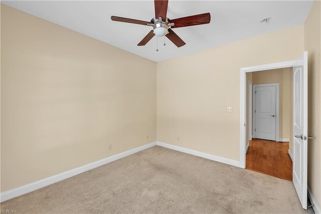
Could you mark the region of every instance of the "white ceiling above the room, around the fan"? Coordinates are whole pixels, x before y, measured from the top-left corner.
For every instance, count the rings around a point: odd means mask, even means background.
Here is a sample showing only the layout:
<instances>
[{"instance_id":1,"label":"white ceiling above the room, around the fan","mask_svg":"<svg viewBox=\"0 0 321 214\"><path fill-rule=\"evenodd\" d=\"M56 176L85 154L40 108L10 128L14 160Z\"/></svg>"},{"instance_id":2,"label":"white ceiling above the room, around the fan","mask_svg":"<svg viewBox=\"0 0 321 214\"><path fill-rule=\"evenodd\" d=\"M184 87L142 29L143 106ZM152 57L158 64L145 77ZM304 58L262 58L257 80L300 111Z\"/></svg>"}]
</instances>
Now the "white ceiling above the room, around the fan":
<instances>
[{"instance_id":1,"label":"white ceiling above the room, around the fan","mask_svg":"<svg viewBox=\"0 0 321 214\"><path fill-rule=\"evenodd\" d=\"M152 27L113 22L111 16L150 21L153 1L2 1L1 3L155 62L304 24L313 1L169 1L167 17L211 13L206 25L173 29L186 45L156 37L137 46ZM268 23L260 23L271 17Z\"/></svg>"}]
</instances>

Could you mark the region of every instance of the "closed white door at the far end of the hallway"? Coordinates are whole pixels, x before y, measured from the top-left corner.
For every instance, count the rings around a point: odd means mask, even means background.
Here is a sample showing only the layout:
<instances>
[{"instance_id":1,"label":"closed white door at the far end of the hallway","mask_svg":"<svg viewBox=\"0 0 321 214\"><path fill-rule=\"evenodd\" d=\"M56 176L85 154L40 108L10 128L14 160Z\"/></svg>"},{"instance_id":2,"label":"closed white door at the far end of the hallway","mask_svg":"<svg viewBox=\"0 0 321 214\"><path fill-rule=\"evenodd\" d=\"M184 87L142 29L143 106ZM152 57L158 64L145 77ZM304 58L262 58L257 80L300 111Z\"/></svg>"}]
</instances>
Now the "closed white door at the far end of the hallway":
<instances>
[{"instance_id":1,"label":"closed white door at the far end of the hallway","mask_svg":"<svg viewBox=\"0 0 321 214\"><path fill-rule=\"evenodd\" d=\"M275 141L276 86L255 85L255 138Z\"/></svg>"}]
</instances>

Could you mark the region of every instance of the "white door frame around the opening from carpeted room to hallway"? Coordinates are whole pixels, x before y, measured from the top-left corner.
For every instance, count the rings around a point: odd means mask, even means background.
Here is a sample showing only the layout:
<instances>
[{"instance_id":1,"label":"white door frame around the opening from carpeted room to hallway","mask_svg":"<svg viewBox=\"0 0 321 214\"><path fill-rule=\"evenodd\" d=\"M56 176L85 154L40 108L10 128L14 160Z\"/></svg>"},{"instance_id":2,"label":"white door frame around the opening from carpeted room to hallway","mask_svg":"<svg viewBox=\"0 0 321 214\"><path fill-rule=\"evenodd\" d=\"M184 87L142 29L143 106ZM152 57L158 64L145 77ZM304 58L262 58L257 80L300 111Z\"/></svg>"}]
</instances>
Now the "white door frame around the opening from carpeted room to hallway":
<instances>
[{"instance_id":1,"label":"white door frame around the opening from carpeted room to hallway","mask_svg":"<svg viewBox=\"0 0 321 214\"><path fill-rule=\"evenodd\" d=\"M246 159L246 73L292 67L296 60L240 68L240 168Z\"/></svg>"}]
</instances>

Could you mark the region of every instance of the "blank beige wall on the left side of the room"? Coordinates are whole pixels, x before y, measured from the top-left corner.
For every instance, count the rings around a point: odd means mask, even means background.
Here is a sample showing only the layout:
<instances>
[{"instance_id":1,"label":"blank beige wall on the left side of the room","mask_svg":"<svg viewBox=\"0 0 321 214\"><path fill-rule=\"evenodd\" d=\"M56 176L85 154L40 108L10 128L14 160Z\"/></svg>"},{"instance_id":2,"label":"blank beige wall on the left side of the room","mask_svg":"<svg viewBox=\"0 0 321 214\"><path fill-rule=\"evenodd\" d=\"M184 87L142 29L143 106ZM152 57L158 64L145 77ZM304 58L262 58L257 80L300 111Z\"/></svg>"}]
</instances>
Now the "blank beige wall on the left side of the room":
<instances>
[{"instance_id":1,"label":"blank beige wall on the left side of the room","mask_svg":"<svg viewBox=\"0 0 321 214\"><path fill-rule=\"evenodd\" d=\"M2 192L156 141L155 62L5 5L1 44Z\"/></svg>"}]
</instances>

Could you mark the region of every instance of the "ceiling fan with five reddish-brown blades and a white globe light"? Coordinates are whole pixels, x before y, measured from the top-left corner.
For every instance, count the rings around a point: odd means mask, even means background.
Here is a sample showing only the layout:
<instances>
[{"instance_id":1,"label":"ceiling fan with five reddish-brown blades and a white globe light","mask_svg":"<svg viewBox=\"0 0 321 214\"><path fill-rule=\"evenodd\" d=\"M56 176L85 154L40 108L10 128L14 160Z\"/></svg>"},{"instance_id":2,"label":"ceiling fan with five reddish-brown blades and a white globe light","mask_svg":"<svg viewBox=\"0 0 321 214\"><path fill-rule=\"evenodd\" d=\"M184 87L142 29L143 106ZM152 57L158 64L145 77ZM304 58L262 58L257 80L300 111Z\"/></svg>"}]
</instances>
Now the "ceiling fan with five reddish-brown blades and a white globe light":
<instances>
[{"instance_id":1,"label":"ceiling fan with five reddish-brown blades and a white globe light","mask_svg":"<svg viewBox=\"0 0 321 214\"><path fill-rule=\"evenodd\" d=\"M112 16L112 21L126 22L138 25L146 25L153 27L151 30L139 43L138 46L146 45L149 40L155 35L166 36L171 40L177 47L182 47L186 43L172 30L172 28L181 28L193 25L203 25L208 24L211 21L210 13L199 14L189 17L183 17L178 19L170 20L166 17L168 0L154 0L155 5L155 18L152 18L150 22L128 19L122 17Z\"/></svg>"}]
</instances>

